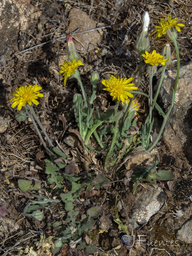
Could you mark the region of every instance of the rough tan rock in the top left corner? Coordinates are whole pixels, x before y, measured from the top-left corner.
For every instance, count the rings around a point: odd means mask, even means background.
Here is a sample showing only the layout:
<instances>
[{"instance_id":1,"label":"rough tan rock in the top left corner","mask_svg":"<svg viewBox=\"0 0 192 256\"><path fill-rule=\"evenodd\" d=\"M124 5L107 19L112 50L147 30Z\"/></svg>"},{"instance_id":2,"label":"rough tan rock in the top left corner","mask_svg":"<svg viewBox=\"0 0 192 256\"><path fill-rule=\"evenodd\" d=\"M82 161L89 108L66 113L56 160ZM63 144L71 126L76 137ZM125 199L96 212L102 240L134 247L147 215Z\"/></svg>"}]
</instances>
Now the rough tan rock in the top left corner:
<instances>
[{"instance_id":1,"label":"rough tan rock in the top left corner","mask_svg":"<svg viewBox=\"0 0 192 256\"><path fill-rule=\"evenodd\" d=\"M38 22L41 11L31 0L2 0L0 4L0 56L17 46L20 30L27 30L31 22Z\"/></svg>"}]
</instances>

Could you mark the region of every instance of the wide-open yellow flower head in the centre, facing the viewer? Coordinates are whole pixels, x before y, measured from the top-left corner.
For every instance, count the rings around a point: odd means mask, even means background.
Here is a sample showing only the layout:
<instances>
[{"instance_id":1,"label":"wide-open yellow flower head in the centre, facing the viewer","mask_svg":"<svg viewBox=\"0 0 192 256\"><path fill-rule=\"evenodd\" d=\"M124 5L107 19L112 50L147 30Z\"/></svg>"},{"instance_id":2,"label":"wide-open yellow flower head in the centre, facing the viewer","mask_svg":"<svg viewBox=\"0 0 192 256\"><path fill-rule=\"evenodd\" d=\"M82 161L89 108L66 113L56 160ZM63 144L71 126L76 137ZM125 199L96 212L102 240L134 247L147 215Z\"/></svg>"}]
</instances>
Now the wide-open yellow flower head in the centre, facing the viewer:
<instances>
[{"instance_id":1,"label":"wide-open yellow flower head in the centre, facing the viewer","mask_svg":"<svg viewBox=\"0 0 192 256\"><path fill-rule=\"evenodd\" d=\"M105 85L103 90L111 92L110 95L113 97L113 100L121 100L125 102L128 97L133 98L132 93L128 91L137 90L138 87L132 86L134 84L129 84L133 78L116 78L115 76L111 75L110 79L102 80L102 84Z\"/></svg>"}]
</instances>

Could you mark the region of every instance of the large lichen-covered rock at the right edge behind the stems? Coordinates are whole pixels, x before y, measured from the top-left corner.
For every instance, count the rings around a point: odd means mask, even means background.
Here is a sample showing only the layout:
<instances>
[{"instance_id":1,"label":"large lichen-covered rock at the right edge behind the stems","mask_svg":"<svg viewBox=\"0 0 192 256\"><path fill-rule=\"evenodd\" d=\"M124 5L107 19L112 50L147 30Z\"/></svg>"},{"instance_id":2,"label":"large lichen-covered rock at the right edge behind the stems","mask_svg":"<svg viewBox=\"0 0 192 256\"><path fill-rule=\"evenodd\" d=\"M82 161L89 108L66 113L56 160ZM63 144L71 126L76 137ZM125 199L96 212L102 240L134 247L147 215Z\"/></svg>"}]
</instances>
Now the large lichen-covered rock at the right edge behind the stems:
<instances>
[{"instance_id":1,"label":"large lichen-covered rock at the right edge behind the stems","mask_svg":"<svg viewBox=\"0 0 192 256\"><path fill-rule=\"evenodd\" d=\"M172 88L175 85L177 69L165 72L159 96L164 104L164 111L170 106ZM155 90L158 86L155 86ZM183 153L192 158L192 62L180 67L179 82L175 97L175 104L164 128L163 139L171 146L170 152Z\"/></svg>"}]
</instances>

